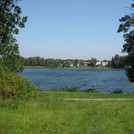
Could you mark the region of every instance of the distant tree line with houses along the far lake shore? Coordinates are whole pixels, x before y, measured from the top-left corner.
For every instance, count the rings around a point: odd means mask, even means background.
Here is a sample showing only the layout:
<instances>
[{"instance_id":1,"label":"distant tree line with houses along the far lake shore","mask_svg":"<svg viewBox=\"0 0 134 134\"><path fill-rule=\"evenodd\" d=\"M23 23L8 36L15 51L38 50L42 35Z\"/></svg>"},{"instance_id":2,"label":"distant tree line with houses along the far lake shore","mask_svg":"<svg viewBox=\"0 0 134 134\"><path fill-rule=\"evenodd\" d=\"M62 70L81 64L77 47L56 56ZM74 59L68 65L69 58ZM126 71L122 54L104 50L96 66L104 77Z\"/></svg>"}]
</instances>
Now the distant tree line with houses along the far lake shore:
<instances>
[{"instance_id":1,"label":"distant tree line with houses along the far lake shore","mask_svg":"<svg viewBox=\"0 0 134 134\"><path fill-rule=\"evenodd\" d=\"M44 59L39 56L24 58L21 57L21 62L24 66L43 66L43 67L102 67L102 65L96 65L99 60L91 58L90 60L79 59ZM127 66L127 56L119 56L116 54L111 60L104 60L107 62L105 67L111 68L125 68ZM104 66L103 66L104 67Z\"/></svg>"}]
</instances>

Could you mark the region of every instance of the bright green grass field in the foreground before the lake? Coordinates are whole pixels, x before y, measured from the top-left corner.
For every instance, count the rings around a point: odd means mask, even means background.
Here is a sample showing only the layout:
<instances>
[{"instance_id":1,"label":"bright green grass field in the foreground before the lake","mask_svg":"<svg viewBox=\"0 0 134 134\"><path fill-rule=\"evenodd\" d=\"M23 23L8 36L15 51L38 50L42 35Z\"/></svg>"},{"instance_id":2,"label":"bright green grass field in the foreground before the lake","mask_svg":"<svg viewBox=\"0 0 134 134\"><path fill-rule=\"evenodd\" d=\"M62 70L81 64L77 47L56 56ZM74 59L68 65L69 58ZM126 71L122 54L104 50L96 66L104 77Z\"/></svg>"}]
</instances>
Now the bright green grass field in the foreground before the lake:
<instances>
[{"instance_id":1,"label":"bright green grass field in the foreground before the lake","mask_svg":"<svg viewBox=\"0 0 134 134\"><path fill-rule=\"evenodd\" d=\"M133 134L134 101L63 98L134 98L133 94L38 91L35 99L0 99L0 134Z\"/></svg>"}]
</instances>

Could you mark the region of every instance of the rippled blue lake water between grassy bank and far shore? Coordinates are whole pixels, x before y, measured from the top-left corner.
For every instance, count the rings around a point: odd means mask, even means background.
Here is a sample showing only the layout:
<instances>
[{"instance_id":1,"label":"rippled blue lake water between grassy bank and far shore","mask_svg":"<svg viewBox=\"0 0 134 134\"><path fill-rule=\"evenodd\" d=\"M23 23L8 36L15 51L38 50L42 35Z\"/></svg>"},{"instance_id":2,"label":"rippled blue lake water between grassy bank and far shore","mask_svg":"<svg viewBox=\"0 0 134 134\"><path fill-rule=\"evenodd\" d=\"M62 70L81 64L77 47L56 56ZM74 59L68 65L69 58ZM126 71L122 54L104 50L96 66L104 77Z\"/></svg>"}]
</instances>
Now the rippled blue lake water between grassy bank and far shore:
<instances>
[{"instance_id":1,"label":"rippled blue lake water between grassy bank and far shore","mask_svg":"<svg viewBox=\"0 0 134 134\"><path fill-rule=\"evenodd\" d=\"M134 92L134 84L128 81L122 69L26 68L21 75L44 90L77 87L80 90L95 88L101 93L111 93L116 89L124 93Z\"/></svg>"}]
</instances>

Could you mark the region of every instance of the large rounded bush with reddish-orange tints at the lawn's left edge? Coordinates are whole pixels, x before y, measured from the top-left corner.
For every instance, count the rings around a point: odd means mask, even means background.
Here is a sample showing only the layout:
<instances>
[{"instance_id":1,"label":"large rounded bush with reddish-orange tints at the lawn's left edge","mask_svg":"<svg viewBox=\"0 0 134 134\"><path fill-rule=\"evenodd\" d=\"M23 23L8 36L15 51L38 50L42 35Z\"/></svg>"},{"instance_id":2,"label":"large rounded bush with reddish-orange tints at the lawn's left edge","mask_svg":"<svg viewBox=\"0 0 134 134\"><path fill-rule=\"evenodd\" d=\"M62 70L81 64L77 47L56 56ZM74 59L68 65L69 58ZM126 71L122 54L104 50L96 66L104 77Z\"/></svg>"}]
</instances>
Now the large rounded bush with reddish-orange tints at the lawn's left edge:
<instances>
[{"instance_id":1,"label":"large rounded bush with reddish-orange tints at the lawn's left edge","mask_svg":"<svg viewBox=\"0 0 134 134\"><path fill-rule=\"evenodd\" d=\"M28 98L35 95L34 84L10 71L0 70L0 95L2 98Z\"/></svg>"}]
</instances>

